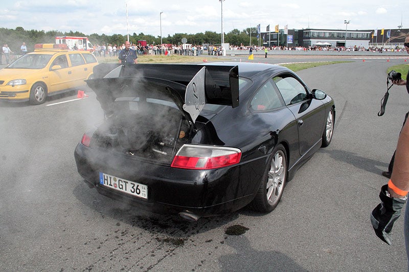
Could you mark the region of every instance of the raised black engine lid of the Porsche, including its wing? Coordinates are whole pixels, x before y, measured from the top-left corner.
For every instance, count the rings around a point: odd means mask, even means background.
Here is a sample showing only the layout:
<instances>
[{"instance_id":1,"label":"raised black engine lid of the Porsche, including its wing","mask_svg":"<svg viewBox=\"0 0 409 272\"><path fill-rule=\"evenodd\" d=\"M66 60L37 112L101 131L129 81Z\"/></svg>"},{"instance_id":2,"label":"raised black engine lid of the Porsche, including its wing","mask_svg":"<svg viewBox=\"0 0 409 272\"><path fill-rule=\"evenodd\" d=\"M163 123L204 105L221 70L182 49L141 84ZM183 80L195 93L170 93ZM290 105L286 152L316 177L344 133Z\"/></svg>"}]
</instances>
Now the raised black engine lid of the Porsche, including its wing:
<instances>
[{"instance_id":1,"label":"raised black engine lid of the Porsche, including its wing","mask_svg":"<svg viewBox=\"0 0 409 272\"><path fill-rule=\"evenodd\" d=\"M115 112L117 98L148 95L149 89L171 97L193 123L205 104L239 105L238 66L99 64L94 76L86 83L108 116Z\"/></svg>"}]
</instances>

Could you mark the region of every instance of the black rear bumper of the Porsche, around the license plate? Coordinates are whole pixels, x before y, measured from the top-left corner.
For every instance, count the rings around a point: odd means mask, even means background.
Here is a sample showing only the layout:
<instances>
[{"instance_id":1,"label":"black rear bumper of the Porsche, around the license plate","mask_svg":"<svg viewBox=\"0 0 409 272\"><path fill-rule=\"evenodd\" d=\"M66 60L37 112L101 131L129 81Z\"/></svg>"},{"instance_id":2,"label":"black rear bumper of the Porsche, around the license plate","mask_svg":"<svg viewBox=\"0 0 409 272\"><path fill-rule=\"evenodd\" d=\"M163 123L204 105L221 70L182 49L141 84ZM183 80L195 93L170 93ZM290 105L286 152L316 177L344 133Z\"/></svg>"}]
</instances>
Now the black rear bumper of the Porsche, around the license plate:
<instances>
[{"instance_id":1,"label":"black rear bumper of the Porsche, around the license plate","mask_svg":"<svg viewBox=\"0 0 409 272\"><path fill-rule=\"evenodd\" d=\"M265 168L264 159L211 170L172 168L115 156L81 143L74 155L79 174L103 195L156 213L189 211L198 216L231 213L246 206L254 199ZM100 185L100 171L147 185L148 199Z\"/></svg>"}]
</instances>

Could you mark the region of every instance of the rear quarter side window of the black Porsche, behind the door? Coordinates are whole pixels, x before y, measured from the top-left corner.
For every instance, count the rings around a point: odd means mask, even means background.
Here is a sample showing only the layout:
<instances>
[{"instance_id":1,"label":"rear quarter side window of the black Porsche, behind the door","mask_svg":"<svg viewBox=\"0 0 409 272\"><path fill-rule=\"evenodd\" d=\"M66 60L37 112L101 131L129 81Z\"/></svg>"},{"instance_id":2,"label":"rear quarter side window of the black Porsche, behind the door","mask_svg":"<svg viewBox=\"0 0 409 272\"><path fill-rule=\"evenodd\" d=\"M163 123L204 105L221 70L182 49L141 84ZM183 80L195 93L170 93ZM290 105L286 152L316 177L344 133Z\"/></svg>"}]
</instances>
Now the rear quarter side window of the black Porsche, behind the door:
<instances>
[{"instance_id":1,"label":"rear quarter side window of the black Porsche, behind the door","mask_svg":"<svg viewBox=\"0 0 409 272\"><path fill-rule=\"evenodd\" d=\"M266 111L284 106L272 84L272 81L269 80L257 91L250 103L254 111Z\"/></svg>"}]
</instances>

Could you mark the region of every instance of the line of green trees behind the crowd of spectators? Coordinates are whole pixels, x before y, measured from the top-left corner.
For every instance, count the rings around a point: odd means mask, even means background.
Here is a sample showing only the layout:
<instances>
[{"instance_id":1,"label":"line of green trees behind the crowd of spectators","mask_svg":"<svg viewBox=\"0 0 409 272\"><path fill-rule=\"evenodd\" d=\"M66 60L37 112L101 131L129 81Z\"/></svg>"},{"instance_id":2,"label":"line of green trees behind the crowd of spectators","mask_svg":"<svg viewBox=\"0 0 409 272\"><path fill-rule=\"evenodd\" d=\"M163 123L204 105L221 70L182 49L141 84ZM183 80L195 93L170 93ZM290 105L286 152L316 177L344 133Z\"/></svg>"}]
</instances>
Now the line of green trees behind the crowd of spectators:
<instances>
[{"instance_id":1,"label":"line of green trees behind the crowd of spectators","mask_svg":"<svg viewBox=\"0 0 409 272\"><path fill-rule=\"evenodd\" d=\"M56 36L79 36L88 37L89 41L96 45L108 45L117 44L122 45L127 40L127 35L122 34L90 34L85 35L82 32L60 32L57 30L43 31L43 30L25 30L22 27L16 27L15 29L0 28L0 43L8 44L12 52L18 53L20 46L23 42L26 43L28 51L32 52L34 50L34 44L36 43L55 43ZM242 31L234 29L229 33L224 34L224 42L230 43L232 45L244 46L258 44L256 28L246 28ZM214 31L206 31L205 33L187 34L187 33L175 33L173 36L168 35L167 37L162 37L163 43L171 44L181 44L182 38L186 38L187 43L195 45L217 45L221 43L221 33L216 33ZM131 43L137 43L139 40L146 40L148 44L160 44L161 37L146 35L144 33L136 34L133 33L129 35L129 41Z\"/></svg>"}]
</instances>

